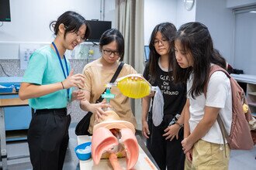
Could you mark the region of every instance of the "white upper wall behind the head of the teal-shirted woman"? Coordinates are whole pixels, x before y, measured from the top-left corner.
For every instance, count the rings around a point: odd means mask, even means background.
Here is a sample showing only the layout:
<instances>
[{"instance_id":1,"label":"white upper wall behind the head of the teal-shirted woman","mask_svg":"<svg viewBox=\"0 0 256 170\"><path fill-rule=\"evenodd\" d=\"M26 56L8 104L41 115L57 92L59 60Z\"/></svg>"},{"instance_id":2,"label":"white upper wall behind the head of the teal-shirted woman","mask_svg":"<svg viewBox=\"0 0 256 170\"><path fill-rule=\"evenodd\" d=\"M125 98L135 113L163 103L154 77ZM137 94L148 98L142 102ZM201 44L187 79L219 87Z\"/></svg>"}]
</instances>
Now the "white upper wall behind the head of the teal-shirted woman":
<instances>
[{"instance_id":1,"label":"white upper wall behind the head of the teal-shirted woman","mask_svg":"<svg viewBox=\"0 0 256 170\"><path fill-rule=\"evenodd\" d=\"M100 19L101 10L100 0L10 0L10 8L12 22L0 27L1 42L49 42L53 39L50 21L63 12L72 10L85 19ZM108 12L110 19L107 16Z\"/></svg>"}]
</instances>

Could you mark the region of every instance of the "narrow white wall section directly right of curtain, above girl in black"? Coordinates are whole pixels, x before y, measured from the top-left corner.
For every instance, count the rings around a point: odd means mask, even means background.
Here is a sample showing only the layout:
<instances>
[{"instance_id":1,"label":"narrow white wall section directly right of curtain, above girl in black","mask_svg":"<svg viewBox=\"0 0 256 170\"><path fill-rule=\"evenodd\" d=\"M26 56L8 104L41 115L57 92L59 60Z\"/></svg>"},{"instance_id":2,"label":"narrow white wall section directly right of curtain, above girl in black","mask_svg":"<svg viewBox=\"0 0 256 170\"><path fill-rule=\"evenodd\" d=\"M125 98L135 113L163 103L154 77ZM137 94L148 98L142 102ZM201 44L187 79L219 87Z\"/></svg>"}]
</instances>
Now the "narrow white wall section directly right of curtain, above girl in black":
<instances>
[{"instance_id":1,"label":"narrow white wall section directly right of curtain, above girl in black","mask_svg":"<svg viewBox=\"0 0 256 170\"><path fill-rule=\"evenodd\" d=\"M161 22L176 26L176 0L144 0L144 45L148 45L151 32Z\"/></svg>"}]
</instances>

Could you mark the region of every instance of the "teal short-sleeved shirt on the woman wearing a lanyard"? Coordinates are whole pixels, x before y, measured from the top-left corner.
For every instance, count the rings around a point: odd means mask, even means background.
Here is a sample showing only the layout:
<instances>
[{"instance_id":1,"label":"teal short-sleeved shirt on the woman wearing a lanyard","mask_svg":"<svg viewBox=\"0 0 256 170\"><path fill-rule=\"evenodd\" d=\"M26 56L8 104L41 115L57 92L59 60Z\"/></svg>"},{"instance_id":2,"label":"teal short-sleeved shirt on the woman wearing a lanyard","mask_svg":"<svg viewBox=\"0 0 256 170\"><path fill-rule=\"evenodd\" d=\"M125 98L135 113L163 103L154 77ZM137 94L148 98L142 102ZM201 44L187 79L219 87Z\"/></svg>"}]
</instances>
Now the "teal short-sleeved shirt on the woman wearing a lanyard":
<instances>
[{"instance_id":1,"label":"teal short-sleeved shirt on the woman wearing a lanyard","mask_svg":"<svg viewBox=\"0 0 256 170\"><path fill-rule=\"evenodd\" d=\"M67 59L67 58L66 58ZM65 61L61 59L65 73L67 72ZM68 72L71 70L67 60ZM66 73L67 75L67 73ZM61 69L61 63L54 49L43 46L37 49L29 58L29 65L25 71L22 82L46 85L61 82L65 79ZM61 86L61 84L60 84ZM70 99L72 90L70 89ZM58 90L42 97L29 99L29 106L33 109L54 109L67 107L67 90Z\"/></svg>"}]
</instances>

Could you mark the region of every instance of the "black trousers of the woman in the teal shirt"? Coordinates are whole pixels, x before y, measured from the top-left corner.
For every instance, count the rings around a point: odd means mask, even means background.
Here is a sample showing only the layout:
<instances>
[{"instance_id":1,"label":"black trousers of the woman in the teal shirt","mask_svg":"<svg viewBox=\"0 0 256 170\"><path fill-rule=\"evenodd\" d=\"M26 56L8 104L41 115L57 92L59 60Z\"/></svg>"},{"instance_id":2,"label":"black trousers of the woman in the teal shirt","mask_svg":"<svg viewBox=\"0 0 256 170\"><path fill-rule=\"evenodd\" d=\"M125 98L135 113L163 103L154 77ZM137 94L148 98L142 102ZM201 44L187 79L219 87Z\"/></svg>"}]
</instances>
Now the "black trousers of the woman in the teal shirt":
<instances>
[{"instance_id":1,"label":"black trousers of the woman in the teal shirt","mask_svg":"<svg viewBox=\"0 0 256 170\"><path fill-rule=\"evenodd\" d=\"M29 124L28 143L34 170L61 170L69 140L67 109L36 110Z\"/></svg>"}]
</instances>

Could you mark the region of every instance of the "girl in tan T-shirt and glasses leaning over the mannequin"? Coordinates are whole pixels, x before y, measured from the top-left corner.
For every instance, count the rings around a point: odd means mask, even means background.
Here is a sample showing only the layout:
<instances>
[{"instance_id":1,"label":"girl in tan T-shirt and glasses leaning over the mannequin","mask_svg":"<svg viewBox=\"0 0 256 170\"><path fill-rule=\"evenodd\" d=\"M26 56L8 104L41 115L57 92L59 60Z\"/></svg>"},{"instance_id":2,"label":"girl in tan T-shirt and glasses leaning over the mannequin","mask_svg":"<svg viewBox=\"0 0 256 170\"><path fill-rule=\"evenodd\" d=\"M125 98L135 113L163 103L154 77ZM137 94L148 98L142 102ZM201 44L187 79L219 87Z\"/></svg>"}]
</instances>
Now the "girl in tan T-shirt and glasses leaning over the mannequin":
<instances>
[{"instance_id":1,"label":"girl in tan T-shirt and glasses leaning over the mannequin","mask_svg":"<svg viewBox=\"0 0 256 170\"><path fill-rule=\"evenodd\" d=\"M83 70L85 76L85 100L80 101L80 107L81 110L93 113L88 125L89 134L92 134L95 120L99 121L102 115L106 115L104 108L109 107L106 101L103 100L100 103L96 103L96 100L99 99L102 91L106 88L106 83L110 82L119 64L123 61L124 39L121 32L117 29L109 29L104 32L99 40L99 49L102 56L92 61L92 63L88 63ZM132 66L123 64L118 77L133 73L137 72ZM124 96L117 87L112 87L111 93L115 94L115 98L110 101L112 109L116 111L121 120L129 121L136 127L137 122L130 107L129 97Z\"/></svg>"}]
</instances>

